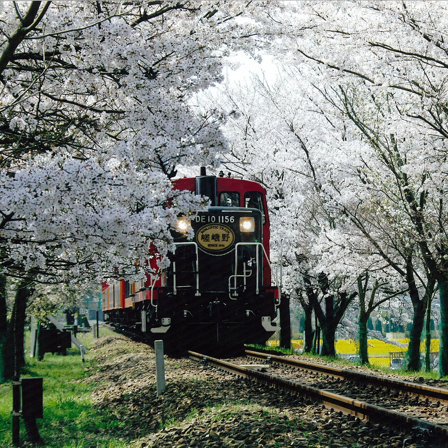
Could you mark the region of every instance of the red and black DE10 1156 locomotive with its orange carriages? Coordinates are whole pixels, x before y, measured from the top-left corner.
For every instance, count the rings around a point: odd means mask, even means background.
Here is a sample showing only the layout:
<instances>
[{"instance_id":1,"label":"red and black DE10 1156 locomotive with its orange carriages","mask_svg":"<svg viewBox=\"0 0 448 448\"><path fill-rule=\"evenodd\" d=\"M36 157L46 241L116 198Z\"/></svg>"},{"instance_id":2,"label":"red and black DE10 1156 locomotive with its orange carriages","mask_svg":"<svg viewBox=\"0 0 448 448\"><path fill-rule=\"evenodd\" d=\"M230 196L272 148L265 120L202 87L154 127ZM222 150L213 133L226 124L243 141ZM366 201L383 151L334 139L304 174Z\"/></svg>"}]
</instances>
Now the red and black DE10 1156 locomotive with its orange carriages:
<instances>
[{"instance_id":1,"label":"red and black DE10 1156 locomotive with its orange carriages","mask_svg":"<svg viewBox=\"0 0 448 448\"><path fill-rule=\"evenodd\" d=\"M207 196L211 207L178 218L176 250L155 281L104 286L106 319L176 349L264 344L280 330L264 188L222 173L207 176L201 168L196 178L174 180L173 189Z\"/></svg>"}]
</instances>

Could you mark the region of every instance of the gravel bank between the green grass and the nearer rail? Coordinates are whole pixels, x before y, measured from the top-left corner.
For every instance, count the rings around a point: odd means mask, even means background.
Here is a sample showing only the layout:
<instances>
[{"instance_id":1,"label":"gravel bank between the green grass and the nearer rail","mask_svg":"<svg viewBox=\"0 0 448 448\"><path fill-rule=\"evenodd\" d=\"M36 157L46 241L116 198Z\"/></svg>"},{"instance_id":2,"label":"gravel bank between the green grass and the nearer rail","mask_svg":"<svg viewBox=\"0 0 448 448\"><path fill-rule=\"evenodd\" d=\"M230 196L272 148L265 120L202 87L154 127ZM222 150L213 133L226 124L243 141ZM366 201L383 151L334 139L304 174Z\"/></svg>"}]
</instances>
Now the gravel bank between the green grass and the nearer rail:
<instances>
[{"instance_id":1,"label":"gravel bank between the green grass and the nearer rail","mask_svg":"<svg viewBox=\"0 0 448 448\"><path fill-rule=\"evenodd\" d=\"M132 447L428 446L422 436L411 439L188 358L165 356L167 388L157 397L154 350L125 336L100 338L89 357L94 406L107 410L117 421L110 431Z\"/></svg>"}]
</instances>

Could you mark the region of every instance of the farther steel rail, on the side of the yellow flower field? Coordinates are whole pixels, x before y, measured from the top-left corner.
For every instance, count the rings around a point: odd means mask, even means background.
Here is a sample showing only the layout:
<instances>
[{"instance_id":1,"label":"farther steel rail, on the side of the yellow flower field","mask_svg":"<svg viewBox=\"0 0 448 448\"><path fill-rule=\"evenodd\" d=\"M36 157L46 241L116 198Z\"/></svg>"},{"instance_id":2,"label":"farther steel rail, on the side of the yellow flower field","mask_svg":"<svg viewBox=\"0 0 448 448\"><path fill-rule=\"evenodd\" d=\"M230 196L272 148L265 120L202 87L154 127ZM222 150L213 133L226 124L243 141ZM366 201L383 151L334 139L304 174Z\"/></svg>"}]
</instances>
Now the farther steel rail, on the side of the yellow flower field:
<instances>
[{"instance_id":1,"label":"farther steel rail, on the side of the yellow flower field","mask_svg":"<svg viewBox=\"0 0 448 448\"><path fill-rule=\"evenodd\" d=\"M413 395L437 399L440 402L448 403L448 389L440 387L427 386L424 384L412 383L410 381L402 381L394 378L386 378L384 376L371 375L363 372L355 372L353 370L341 369L339 367L314 364L312 362L301 361L299 359L291 359L285 356L270 355L258 351L246 350L248 356L258 359L268 359L272 362L291 365L312 372L320 372L329 376L335 376L342 379L374 384L381 387L398 389L401 392L407 392Z\"/></svg>"}]
</instances>

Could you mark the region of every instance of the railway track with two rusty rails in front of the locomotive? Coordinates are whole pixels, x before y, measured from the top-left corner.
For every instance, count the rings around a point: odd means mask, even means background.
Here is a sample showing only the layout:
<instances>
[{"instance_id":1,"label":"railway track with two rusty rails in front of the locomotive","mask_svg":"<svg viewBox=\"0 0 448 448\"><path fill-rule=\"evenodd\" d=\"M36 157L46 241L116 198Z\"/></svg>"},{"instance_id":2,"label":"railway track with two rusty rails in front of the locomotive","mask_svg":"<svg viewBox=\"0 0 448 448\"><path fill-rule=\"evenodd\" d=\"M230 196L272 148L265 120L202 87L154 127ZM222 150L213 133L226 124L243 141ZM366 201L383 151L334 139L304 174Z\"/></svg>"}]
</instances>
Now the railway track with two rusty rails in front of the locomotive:
<instances>
[{"instance_id":1,"label":"railway track with two rusty rails in front of the locomotive","mask_svg":"<svg viewBox=\"0 0 448 448\"><path fill-rule=\"evenodd\" d=\"M264 359L269 364L251 366L247 358L240 358L235 363L234 360L229 362L189 352L192 359L271 387L307 396L363 420L419 433L431 446L448 447L448 407L443 405L448 402L447 390L251 350L246 354ZM343 395L336 393L340 391Z\"/></svg>"}]
</instances>

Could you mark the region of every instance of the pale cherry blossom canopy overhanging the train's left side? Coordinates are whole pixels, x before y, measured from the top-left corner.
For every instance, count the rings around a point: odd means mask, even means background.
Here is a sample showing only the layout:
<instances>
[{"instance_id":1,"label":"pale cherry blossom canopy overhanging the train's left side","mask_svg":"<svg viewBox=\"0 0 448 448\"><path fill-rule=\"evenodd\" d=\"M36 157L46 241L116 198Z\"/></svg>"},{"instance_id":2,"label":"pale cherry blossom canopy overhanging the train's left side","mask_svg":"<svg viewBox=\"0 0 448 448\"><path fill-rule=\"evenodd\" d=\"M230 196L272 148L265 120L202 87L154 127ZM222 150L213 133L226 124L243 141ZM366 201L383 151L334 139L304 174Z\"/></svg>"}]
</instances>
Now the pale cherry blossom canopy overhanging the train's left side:
<instances>
[{"instance_id":1,"label":"pale cherry blossom canopy overhanging the train's left side","mask_svg":"<svg viewBox=\"0 0 448 448\"><path fill-rule=\"evenodd\" d=\"M176 167L226 149L222 114L190 99L232 47L264 45L264 6L1 3L0 275L135 280L151 247L167 259L176 217L206 206L173 193Z\"/></svg>"}]
</instances>

